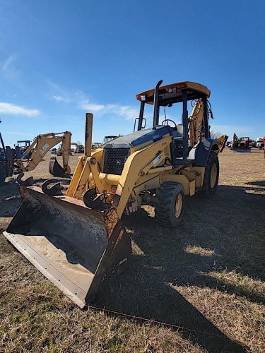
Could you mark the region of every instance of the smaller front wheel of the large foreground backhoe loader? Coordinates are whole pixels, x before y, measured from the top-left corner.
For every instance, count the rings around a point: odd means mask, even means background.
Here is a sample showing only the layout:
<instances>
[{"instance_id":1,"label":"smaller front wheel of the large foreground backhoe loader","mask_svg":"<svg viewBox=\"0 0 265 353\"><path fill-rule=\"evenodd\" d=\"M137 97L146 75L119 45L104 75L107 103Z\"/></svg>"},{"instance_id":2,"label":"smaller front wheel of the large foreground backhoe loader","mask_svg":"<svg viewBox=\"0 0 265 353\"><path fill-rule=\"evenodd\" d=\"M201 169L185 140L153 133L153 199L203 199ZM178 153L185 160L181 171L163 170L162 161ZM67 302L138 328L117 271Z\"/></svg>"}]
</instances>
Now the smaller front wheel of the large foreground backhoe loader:
<instances>
[{"instance_id":1,"label":"smaller front wheel of the large foreground backhoe loader","mask_svg":"<svg viewBox=\"0 0 265 353\"><path fill-rule=\"evenodd\" d=\"M184 189L182 184L166 181L155 197L155 219L163 227L177 227L184 213Z\"/></svg>"}]
</instances>

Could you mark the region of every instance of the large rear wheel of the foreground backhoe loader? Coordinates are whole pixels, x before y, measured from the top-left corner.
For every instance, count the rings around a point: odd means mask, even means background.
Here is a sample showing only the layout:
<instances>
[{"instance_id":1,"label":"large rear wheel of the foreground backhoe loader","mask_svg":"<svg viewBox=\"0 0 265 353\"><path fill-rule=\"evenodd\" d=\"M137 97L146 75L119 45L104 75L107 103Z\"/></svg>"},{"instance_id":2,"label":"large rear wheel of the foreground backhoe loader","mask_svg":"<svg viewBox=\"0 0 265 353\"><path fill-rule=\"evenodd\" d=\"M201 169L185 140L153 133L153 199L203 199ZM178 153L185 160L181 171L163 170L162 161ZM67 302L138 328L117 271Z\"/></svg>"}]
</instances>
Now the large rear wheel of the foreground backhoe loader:
<instances>
[{"instance_id":1,"label":"large rear wheel of the foreground backhoe loader","mask_svg":"<svg viewBox=\"0 0 265 353\"><path fill-rule=\"evenodd\" d=\"M204 184L199 191L199 195L210 198L216 193L219 180L219 160L216 152L211 151L208 157L205 173Z\"/></svg>"}]
</instances>

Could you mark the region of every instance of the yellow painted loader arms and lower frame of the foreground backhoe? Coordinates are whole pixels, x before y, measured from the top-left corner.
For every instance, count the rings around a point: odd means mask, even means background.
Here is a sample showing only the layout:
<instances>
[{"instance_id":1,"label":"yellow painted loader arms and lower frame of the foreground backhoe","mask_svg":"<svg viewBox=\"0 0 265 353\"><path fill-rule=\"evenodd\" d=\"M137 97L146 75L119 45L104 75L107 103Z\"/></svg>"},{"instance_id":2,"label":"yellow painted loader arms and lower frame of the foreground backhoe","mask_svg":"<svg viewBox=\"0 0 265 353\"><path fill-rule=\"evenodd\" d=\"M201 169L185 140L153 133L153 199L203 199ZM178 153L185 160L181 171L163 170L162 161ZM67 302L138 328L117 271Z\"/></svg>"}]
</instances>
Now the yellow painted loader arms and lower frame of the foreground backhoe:
<instances>
[{"instance_id":1,"label":"yellow painted loader arms and lower frame of the foreground backhoe","mask_svg":"<svg viewBox=\"0 0 265 353\"><path fill-rule=\"evenodd\" d=\"M146 201L144 191L158 189L165 181L182 184L184 193L193 196L204 181L204 167L163 165L170 157L172 136L167 134L161 140L150 145L139 145L131 149L131 154L124 164L121 175L102 172L103 148L92 150L90 157L79 157L76 171L66 196L81 198L90 188L98 193L107 193L108 202L117 207L117 214L122 217L128 203L136 201L136 209L141 201Z\"/></svg>"}]
</instances>

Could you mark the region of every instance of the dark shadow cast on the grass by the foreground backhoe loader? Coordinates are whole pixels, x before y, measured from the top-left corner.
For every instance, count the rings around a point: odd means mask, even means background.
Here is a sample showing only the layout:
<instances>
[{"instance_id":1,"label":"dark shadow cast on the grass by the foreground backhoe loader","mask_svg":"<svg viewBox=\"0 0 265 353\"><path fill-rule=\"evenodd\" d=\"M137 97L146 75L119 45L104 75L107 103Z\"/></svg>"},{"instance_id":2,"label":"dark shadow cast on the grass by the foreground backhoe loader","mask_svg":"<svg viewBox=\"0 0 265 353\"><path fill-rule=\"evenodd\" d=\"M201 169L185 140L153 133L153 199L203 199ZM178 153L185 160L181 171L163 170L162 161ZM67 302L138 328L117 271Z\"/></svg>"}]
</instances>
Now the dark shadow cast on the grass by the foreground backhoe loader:
<instances>
[{"instance_id":1,"label":"dark shadow cast on the grass by the foreground backhoe loader","mask_svg":"<svg viewBox=\"0 0 265 353\"><path fill-rule=\"evenodd\" d=\"M174 286L196 285L265 302L207 273L236 271L264 281L264 195L219 186L211 200L189 198L177 229L161 229L146 210L124 217L140 253L124 273L98 294L93 306L180 326L181 334L208 352L245 352L185 299ZM210 255L192 253L202 249ZM205 275L206 274L206 275Z\"/></svg>"}]
</instances>

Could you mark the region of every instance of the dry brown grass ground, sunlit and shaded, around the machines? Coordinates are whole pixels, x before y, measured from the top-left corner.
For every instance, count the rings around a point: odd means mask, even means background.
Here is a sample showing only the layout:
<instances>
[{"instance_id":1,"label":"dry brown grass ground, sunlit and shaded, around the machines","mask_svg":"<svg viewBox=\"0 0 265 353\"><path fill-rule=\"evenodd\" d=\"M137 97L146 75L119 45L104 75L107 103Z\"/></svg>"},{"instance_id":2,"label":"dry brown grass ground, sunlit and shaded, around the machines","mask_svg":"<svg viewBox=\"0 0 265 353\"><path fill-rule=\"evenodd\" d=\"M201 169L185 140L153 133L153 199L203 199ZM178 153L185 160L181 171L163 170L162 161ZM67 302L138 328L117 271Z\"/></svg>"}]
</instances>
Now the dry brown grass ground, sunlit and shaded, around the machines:
<instances>
[{"instance_id":1,"label":"dry brown grass ground, sunlit and shaded, around the machines","mask_svg":"<svg viewBox=\"0 0 265 353\"><path fill-rule=\"evenodd\" d=\"M47 161L28 175L49 178ZM225 148L219 184L211 200L187 199L173 231L151 207L124 217L134 261L86 310L1 236L0 352L264 352L263 151ZM19 203L10 179L1 229Z\"/></svg>"}]
</instances>

